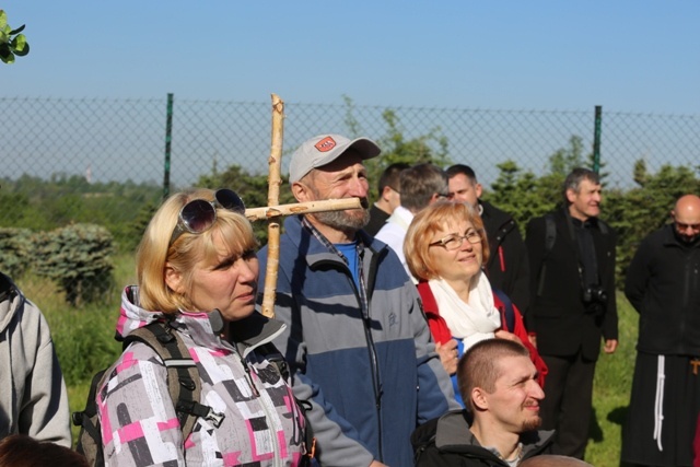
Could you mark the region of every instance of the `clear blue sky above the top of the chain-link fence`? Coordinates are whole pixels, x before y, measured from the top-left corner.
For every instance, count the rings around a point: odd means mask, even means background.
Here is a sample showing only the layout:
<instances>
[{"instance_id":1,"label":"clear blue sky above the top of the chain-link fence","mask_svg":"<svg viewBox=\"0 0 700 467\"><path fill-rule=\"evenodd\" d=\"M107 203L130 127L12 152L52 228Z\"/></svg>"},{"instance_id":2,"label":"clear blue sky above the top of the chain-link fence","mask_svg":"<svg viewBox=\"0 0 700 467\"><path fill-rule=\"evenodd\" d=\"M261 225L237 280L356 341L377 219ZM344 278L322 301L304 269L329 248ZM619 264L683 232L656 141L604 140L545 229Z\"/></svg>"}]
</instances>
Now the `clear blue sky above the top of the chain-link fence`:
<instances>
[{"instance_id":1,"label":"clear blue sky above the top of the chain-link fence","mask_svg":"<svg viewBox=\"0 0 700 467\"><path fill-rule=\"evenodd\" d=\"M700 114L696 0L4 0L0 97Z\"/></svg>"}]
</instances>

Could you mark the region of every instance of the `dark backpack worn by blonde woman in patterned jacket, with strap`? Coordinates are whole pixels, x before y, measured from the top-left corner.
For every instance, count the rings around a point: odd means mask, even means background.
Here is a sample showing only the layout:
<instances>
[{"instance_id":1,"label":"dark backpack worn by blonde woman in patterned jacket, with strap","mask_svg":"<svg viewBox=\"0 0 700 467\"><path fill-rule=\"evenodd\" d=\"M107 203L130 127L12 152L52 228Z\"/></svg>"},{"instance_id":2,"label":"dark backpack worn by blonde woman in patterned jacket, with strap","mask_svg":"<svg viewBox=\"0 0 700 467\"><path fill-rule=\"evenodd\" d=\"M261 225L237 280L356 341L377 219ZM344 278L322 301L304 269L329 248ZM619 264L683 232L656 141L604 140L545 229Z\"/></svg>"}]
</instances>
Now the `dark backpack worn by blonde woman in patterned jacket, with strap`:
<instances>
[{"instance_id":1,"label":"dark backpack worn by blonde woman in patterned jacket, with strap","mask_svg":"<svg viewBox=\"0 0 700 467\"><path fill-rule=\"evenodd\" d=\"M179 335L173 332L167 324L154 322L132 330L124 339L122 348L126 350L135 341L150 346L167 367L167 390L175 405L183 440L186 440L191 433L198 417L210 420L214 427L219 428L225 415L215 412L211 407L199 402L201 394L199 371ZM109 376L105 374L107 370L102 370L93 376L85 409L72 413L73 424L81 427L75 450L88 458L91 466L104 465L95 396Z\"/></svg>"}]
</instances>

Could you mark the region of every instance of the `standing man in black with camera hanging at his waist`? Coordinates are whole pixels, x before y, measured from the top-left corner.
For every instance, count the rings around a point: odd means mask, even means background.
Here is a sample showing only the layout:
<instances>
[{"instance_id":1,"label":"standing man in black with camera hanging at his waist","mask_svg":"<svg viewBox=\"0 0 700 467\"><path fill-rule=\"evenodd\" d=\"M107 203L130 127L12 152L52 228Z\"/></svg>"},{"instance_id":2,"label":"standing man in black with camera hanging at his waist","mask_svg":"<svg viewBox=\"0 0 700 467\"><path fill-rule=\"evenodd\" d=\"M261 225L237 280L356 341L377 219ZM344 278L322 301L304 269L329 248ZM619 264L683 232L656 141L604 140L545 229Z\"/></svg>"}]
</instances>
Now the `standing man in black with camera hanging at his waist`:
<instances>
[{"instance_id":1,"label":"standing man in black with camera hanging at his waist","mask_svg":"<svg viewBox=\"0 0 700 467\"><path fill-rule=\"evenodd\" d=\"M564 208L527 224L526 325L549 369L541 416L542 428L557 430L552 454L583 458L600 338L606 353L617 349L615 234L598 219L598 174L574 168L563 196Z\"/></svg>"}]
</instances>

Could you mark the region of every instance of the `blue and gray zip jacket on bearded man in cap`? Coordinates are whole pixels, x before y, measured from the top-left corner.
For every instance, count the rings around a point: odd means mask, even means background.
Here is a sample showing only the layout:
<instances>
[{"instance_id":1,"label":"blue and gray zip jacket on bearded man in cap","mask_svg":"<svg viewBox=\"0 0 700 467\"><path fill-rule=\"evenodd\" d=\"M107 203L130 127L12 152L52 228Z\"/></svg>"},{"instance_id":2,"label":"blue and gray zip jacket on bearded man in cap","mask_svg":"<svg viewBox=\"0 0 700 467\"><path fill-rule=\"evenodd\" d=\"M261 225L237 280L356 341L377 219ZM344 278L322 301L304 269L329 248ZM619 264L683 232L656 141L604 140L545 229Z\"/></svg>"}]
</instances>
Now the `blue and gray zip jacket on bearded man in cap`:
<instances>
[{"instance_id":1,"label":"blue and gray zip jacket on bearded man in cap","mask_svg":"<svg viewBox=\"0 0 700 467\"><path fill-rule=\"evenodd\" d=\"M362 231L366 294L300 217L284 229L275 313L287 329L275 343L290 363L295 396L312 404L318 460L412 465L413 429L459 407L416 287L396 254ZM259 259L262 284L267 247Z\"/></svg>"}]
</instances>

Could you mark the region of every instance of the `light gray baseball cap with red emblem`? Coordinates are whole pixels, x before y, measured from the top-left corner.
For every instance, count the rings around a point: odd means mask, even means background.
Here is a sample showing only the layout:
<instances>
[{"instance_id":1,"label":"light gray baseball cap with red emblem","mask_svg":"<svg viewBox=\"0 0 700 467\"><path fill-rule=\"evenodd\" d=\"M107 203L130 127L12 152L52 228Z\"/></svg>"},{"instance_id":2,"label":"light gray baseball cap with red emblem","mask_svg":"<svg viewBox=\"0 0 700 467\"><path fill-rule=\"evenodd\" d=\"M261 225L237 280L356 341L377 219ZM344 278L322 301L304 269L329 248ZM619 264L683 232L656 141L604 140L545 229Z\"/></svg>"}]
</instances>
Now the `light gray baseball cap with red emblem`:
<instances>
[{"instance_id":1,"label":"light gray baseball cap with red emblem","mask_svg":"<svg viewBox=\"0 0 700 467\"><path fill-rule=\"evenodd\" d=\"M307 139L292 154L289 164L289 183L299 182L312 171L330 164L349 150L354 149L362 160L376 157L382 150L368 138L349 140L340 135L319 135Z\"/></svg>"}]
</instances>

